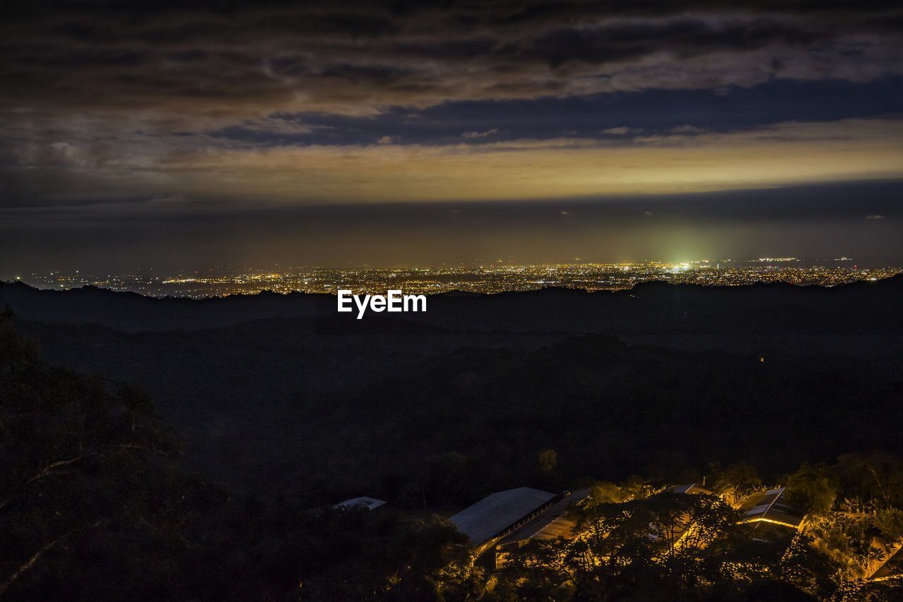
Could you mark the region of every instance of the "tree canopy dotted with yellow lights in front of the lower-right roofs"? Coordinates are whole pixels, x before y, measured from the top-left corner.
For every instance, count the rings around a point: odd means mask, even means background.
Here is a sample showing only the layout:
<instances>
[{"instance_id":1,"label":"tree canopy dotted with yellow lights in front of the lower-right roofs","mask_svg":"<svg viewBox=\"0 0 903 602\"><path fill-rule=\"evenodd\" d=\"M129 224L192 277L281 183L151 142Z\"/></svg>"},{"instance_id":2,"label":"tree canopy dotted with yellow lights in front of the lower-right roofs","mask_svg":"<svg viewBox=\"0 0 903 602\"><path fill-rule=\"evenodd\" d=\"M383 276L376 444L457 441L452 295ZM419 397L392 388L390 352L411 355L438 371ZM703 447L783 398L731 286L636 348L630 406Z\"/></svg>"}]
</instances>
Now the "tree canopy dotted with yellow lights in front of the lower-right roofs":
<instances>
[{"instance_id":1,"label":"tree canopy dotted with yellow lights in front of the lower-right roofs","mask_svg":"<svg viewBox=\"0 0 903 602\"><path fill-rule=\"evenodd\" d=\"M573 540L532 541L498 575L498 600L824 597L833 566L808 542L758 541L713 495L592 504Z\"/></svg>"}]
</instances>

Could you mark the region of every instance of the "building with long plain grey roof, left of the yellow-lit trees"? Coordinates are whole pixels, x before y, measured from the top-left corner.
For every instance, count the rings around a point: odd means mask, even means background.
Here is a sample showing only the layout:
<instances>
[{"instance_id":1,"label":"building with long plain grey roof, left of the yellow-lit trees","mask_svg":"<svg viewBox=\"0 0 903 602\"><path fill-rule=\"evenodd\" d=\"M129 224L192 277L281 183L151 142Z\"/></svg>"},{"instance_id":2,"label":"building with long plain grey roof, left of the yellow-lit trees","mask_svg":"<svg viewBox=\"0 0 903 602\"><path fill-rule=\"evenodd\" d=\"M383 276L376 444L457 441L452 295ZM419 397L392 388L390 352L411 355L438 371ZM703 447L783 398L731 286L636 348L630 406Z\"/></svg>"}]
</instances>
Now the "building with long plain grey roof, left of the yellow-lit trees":
<instances>
[{"instance_id":1,"label":"building with long plain grey roof, left of the yellow-lit trees","mask_svg":"<svg viewBox=\"0 0 903 602\"><path fill-rule=\"evenodd\" d=\"M484 497L451 521L470 538L479 556L498 540L550 508L558 496L530 487L507 489Z\"/></svg>"}]
</instances>

